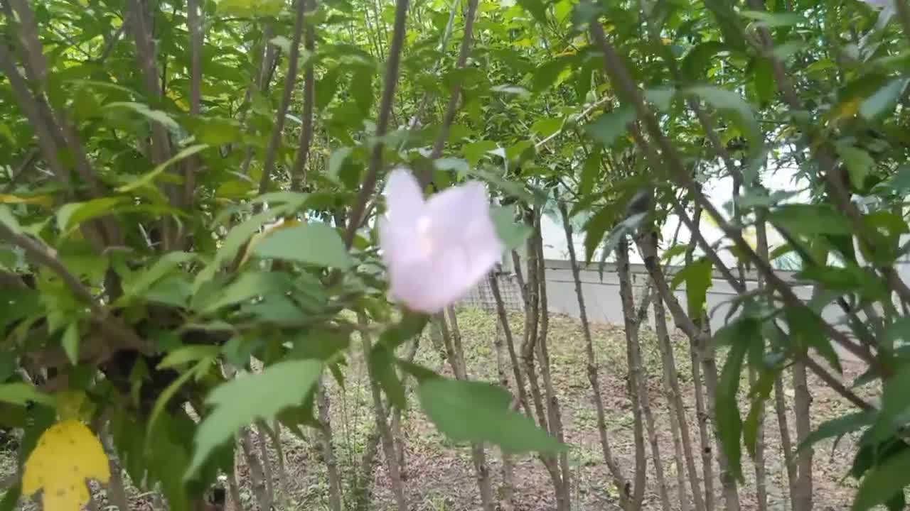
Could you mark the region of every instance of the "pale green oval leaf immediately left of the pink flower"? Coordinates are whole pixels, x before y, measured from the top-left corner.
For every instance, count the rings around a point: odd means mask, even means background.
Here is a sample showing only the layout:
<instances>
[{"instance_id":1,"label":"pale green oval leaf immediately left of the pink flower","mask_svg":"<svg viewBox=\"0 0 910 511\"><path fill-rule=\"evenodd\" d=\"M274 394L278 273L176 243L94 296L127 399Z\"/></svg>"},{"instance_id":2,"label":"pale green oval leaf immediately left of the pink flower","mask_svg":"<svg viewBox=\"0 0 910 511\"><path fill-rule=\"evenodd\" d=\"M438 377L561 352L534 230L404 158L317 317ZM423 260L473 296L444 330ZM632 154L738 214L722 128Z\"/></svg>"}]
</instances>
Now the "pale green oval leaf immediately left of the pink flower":
<instances>
[{"instance_id":1,"label":"pale green oval leaf immediately left of the pink flower","mask_svg":"<svg viewBox=\"0 0 910 511\"><path fill-rule=\"evenodd\" d=\"M253 247L253 254L340 269L353 265L338 232L319 222L277 229Z\"/></svg>"}]
</instances>

